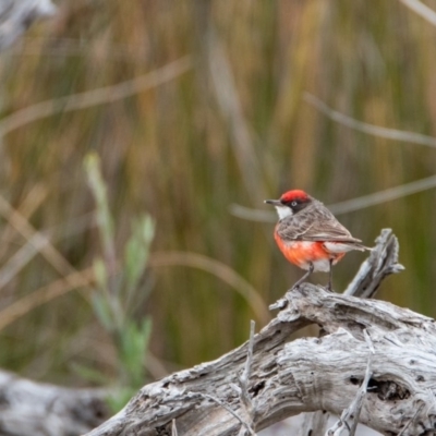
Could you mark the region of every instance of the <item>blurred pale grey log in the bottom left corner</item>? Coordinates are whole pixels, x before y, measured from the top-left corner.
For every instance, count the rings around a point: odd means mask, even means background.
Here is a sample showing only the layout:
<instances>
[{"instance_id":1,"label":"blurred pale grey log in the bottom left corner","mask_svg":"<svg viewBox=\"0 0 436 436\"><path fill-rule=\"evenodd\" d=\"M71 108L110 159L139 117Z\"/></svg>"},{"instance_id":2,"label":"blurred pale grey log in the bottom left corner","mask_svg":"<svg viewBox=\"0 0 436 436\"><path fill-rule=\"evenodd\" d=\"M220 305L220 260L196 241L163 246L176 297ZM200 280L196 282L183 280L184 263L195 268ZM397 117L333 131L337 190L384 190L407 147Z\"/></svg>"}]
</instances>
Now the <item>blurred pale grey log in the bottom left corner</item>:
<instances>
[{"instance_id":1,"label":"blurred pale grey log in the bottom left corner","mask_svg":"<svg viewBox=\"0 0 436 436\"><path fill-rule=\"evenodd\" d=\"M107 392L38 384L0 371L0 434L72 436L98 425Z\"/></svg>"}]
</instances>

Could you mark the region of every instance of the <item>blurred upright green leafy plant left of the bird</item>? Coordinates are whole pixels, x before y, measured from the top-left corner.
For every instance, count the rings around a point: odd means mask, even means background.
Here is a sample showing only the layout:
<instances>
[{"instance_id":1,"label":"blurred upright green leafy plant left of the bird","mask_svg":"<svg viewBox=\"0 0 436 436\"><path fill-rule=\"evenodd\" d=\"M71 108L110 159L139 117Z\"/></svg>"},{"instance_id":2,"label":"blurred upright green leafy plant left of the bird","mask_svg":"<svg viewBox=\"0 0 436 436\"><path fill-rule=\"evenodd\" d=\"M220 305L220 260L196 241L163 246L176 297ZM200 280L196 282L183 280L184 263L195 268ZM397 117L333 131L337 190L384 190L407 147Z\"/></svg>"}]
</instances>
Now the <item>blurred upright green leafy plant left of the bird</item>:
<instances>
[{"instance_id":1,"label":"blurred upright green leafy plant left of the bird","mask_svg":"<svg viewBox=\"0 0 436 436\"><path fill-rule=\"evenodd\" d=\"M96 202L98 231L106 255L105 258L96 256L94 259L97 287L92 295L92 303L98 320L111 336L117 351L118 389L109 399L109 405L117 412L145 383L144 364L152 319L144 315L142 319L136 319L130 306L136 298L143 300L140 296L140 280L147 268L155 225L148 215L133 221L132 233L125 244L125 256L118 272L113 218L100 172L100 161L95 153L86 156L85 170ZM90 368L82 367L81 374L89 380L96 379L96 372ZM109 380L106 382L109 384Z\"/></svg>"}]
</instances>

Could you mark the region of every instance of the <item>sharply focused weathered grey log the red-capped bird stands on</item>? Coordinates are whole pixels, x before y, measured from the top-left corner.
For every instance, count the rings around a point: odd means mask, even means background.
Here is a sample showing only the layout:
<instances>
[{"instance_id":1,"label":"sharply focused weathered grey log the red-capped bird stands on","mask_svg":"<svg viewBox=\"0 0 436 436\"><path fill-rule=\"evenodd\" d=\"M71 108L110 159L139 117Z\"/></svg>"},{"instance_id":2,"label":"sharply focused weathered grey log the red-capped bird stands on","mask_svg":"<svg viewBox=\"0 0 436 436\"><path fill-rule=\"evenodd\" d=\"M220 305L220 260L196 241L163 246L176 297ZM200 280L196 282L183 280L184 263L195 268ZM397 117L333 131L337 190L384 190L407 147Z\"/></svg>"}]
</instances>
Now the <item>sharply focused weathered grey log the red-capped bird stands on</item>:
<instances>
[{"instance_id":1,"label":"sharply focused weathered grey log the red-capped bird stands on","mask_svg":"<svg viewBox=\"0 0 436 436\"><path fill-rule=\"evenodd\" d=\"M395 237L389 231L383 235L378 245L386 250L379 250L379 262L365 274L361 270L362 280L356 282L366 282L368 274L377 279L383 270L401 268L391 256L392 250L398 254ZM317 410L337 415L347 410L344 416L351 420L359 414L361 423L385 435L424 435L436 428L433 319L308 283L289 291L276 307L280 307L277 317L254 337L249 392L256 431ZM318 325L320 337L289 342L307 325ZM249 434L241 431L246 408L234 388L246 355L247 343L145 386L88 436L170 435L174 428L179 436ZM367 388L360 389L365 375ZM331 434L340 434L340 425Z\"/></svg>"}]
</instances>

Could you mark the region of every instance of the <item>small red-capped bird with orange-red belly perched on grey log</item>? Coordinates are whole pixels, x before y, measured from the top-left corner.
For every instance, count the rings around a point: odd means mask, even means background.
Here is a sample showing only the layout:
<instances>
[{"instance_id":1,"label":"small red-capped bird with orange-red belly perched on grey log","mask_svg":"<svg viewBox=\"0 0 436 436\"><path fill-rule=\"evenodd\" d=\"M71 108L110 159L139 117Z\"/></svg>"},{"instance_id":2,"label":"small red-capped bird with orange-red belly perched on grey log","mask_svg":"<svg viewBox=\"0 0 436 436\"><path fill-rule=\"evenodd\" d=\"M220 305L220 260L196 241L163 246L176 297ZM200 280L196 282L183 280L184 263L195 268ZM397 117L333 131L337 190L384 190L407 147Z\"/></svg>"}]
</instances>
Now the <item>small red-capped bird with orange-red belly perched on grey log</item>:
<instances>
[{"instance_id":1,"label":"small red-capped bird with orange-red belly perched on grey log","mask_svg":"<svg viewBox=\"0 0 436 436\"><path fill-rule=\"evenodd\" d=\"M313 271L324 271L329 272L327 290L331 291L331 266L347 252L371 250L353 238L323 203L304 191L288 191L279 199L265 203L275 206L279 216L274 238L280 251L289 262L307 270L292 288Z\"/></svg>"}]
</instances>

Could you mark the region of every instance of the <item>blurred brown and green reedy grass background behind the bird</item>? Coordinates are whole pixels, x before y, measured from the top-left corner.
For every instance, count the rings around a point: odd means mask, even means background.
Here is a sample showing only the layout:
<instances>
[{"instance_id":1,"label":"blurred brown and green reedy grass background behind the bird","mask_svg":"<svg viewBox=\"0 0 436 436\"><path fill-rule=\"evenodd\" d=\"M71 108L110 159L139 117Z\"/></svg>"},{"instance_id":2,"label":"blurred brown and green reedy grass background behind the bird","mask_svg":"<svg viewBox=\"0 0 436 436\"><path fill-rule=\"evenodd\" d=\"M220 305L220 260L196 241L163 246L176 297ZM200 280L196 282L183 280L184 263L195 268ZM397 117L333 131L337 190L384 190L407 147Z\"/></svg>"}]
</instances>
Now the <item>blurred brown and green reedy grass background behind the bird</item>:
<instances>
[{"instance_id":1,"label":"blurred brown and green reedy grass background behind the bird","mask_svg":"<svg viewBox=\"0 0 436 436\"><path fill-rule=\"evenodd\" d=\"M360 133L303 98L310 92L358 120L435 135L436 28L400 2L58 4L0 57L0 367L64 385L88 383L76 364L117 372L86 286L101 253L83 167L92 150L116 253L134 217L156 221L142 279L149 296L136 307L153 318L152 378L240 344L250 319L261 328L267 305L302 274L274 245L274 225L235 217L232 204L262 209L291 187L334 204L435 172L435 149ZM393 229L407 269L379 298L431 316L435 216L435 190L338 216L366 244ZM26 220L51 249L33 249ZM363 258L353 253L336 267L337 290ZM74 281L75 270L86 274ZM44 290L53 282L58 298ZM244 298L251 287L261 307Z\"/></svg>"}]
</instances>

